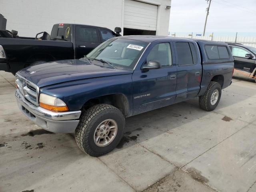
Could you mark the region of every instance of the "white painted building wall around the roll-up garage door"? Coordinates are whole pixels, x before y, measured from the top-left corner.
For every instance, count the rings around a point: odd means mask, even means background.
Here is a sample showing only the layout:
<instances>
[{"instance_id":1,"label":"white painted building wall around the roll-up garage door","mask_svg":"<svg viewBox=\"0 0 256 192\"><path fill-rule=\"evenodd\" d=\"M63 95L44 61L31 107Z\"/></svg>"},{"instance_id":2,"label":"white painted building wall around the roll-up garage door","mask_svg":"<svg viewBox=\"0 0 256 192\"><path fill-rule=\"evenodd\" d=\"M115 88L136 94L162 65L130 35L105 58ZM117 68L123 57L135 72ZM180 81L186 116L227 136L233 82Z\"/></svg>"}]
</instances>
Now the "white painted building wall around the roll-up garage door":
<instances>
[{"instance_id":1,"label":"white painted building wall around the roll-up garage door","mask_svg":"<svg viewBox=\"0 0 256 192\"><path fill-rule=\"evenodd\" d=\"M156 35L167 35L171 0L140 0L158 5ZM123 29L124 0L0 0L0 13L7 19L6 29L19 36L50 34L53 24L76 23Z\"/></svg>"}]
</instances>

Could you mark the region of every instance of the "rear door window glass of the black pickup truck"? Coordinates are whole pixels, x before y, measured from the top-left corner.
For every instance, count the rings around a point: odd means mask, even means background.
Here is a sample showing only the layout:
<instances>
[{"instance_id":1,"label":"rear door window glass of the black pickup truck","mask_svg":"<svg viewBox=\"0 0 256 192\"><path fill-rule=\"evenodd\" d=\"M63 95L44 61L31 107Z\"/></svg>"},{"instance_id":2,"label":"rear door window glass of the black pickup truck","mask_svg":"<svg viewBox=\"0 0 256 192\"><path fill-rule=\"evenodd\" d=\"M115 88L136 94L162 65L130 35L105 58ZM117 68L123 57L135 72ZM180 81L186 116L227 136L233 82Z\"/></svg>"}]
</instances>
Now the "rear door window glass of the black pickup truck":
<instances>
[{"instance_id":1,"label":"rear door window glass of the black pickup truck","mask_svg":"<svg viewBox=\"0 0 256 192\"><path fill-rule=\"evenodd\" d=\"M76 40L86 42L98 42L98 33L96 28L77 27Z\"/></svg>"}]
</instances>

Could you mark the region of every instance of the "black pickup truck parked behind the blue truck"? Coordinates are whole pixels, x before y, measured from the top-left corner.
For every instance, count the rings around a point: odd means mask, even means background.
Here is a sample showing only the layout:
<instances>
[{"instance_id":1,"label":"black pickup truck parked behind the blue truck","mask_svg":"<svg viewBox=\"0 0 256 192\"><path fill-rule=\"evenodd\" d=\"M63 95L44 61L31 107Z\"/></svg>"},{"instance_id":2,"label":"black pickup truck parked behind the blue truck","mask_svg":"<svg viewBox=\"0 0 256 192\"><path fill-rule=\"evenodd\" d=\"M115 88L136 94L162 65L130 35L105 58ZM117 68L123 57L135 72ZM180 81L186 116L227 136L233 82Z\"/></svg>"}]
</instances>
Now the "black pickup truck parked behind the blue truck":
<instances>
[{"instance_id":1,"label":"black pickup truck parked behind the blue truck","mask_svg":"<svg viewBox=\"0 0 256 192\"><path fill-rule=\"evenodd\" d=\"M116 33L115 33L116 32ZM32 64L55 60L82 58L109 38L121 36L121 28L115 32L108 28L80 25L54 24L51 35L42 37L0 38L0 70L16 74Z\"/></svg>"}]
</instances>

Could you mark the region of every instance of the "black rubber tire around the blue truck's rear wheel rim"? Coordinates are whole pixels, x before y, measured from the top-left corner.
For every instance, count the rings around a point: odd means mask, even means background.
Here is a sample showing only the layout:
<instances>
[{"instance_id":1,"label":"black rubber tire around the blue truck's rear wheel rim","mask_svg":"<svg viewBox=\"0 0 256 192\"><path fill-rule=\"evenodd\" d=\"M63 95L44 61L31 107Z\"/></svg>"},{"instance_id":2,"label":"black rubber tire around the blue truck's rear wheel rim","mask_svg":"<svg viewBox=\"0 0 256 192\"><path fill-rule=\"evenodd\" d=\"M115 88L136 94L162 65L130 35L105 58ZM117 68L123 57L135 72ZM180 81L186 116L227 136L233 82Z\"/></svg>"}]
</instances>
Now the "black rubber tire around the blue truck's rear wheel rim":
<instances>
[{"instance_id":1,"label":"black rubber tire around the blue truck's rear wheel rim","mask_svg":"<svg viewBox=\"0 0 256 192\"><path fill-rule=\"evenodd\" d=\"M212 93L215 90L218 90L219 96L218 96L217 102L214 105L212 105L210 100L211 100ZM216 106L220 102L220 97L221 97L221 86L220 86L220 84L218 82L211 81L210 84L208 85L207 89L206 89L206 92L199 97L199 106L203 110L212 111L216 108Z\"/></svg>"}]
</instances>

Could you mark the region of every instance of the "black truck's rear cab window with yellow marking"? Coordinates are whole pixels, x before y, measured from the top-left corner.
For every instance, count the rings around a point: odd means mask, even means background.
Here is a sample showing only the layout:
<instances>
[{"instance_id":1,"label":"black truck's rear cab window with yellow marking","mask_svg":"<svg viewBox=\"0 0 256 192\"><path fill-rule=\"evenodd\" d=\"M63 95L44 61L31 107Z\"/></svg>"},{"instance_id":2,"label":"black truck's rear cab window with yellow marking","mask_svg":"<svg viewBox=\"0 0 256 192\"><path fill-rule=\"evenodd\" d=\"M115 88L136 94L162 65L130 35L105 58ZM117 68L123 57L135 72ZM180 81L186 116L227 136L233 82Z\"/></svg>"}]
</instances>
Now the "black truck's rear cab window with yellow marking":
<instances>
[{"instance_id":1,"label":"black truck's rear cab window with yellow marking","mask_svg":"<svg viewBox=\"0 0 256 192\"><path fill-rule=\"evenodd\" d=\"M71 26L54 25L50 40L71 41Z\"/></svg>"}]
</instances>

